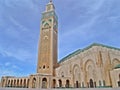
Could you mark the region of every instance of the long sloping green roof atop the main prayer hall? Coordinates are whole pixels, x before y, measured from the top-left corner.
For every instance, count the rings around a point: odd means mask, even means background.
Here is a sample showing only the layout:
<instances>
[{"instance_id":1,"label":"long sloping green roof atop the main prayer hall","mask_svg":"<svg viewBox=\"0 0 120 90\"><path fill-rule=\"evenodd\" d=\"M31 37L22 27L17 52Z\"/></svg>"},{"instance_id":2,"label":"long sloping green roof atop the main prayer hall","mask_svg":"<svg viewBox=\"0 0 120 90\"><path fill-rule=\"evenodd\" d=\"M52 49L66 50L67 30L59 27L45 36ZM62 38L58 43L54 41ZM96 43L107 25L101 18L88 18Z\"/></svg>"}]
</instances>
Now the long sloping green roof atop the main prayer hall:
<instances>
[{"instance_id":1,"label":"long sloping green roof atop the main prayer hall","mask_svg":"<svg viewBox=\"0 0 120 90\"><path fill-rule=\"evenodd\" d=\"M93 44L91 44L90 46L88 46L88 47L86 47L86 48L84 48L84 49L78 49L78 50L76 50L75 52L73 52L73 53L65 56L64 58L62 58L62 59L59 61L59 63L62 63L62 62L64 62L64 61L70 59L71 57L73 57L73 56L75 56L75 55L78 55L78 54L80 54L81 52L84 52L85 50L90 49L90 48L93 47L93 46L102 46L102 47L106 47L106 48L110 48L110 49L114 49L114 50L119 50L119 51L120 51L120 48L115 48L115 47L112 47L112 46L107 46L107 45L103 45L103 44L99 44L99 43L93 43Z\"/></svg>"}]
</instances>

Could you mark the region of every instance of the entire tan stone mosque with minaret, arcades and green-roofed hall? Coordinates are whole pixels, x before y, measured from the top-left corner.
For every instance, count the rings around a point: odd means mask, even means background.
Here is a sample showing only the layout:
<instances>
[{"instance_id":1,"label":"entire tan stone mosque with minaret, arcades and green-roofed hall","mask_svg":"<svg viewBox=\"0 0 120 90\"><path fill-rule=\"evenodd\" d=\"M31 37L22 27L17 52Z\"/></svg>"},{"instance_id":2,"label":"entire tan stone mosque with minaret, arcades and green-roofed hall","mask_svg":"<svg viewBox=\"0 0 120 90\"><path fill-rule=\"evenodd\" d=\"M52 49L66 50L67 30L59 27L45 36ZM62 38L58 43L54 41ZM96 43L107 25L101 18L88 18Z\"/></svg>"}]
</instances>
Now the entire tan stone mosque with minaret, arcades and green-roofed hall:
<instances>
[{"instance_id":1,"label":"entire tan stone mosque with minaret, arcades and green-roofed hall","mask_svg":"<svg viewBox=\"0 0 120 90\"><path fill-rule=\"evenodd\" d=\"M3 76L8 88L120 87L120 49L93 43L57 62L58 17L53 2L42 13L37 72L27 77Z\"/></svg>"}]
</instances>

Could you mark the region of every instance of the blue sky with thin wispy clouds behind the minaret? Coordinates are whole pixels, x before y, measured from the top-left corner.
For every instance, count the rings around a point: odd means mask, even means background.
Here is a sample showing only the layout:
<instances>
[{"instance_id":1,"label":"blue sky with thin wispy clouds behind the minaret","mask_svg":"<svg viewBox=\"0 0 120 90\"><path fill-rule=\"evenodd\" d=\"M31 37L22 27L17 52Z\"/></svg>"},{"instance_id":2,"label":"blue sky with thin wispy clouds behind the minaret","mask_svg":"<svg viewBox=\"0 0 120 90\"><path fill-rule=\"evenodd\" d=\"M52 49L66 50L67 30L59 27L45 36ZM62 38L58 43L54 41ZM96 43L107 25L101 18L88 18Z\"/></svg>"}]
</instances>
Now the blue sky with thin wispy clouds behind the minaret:
<instances>
[{"instance_id":1,"label":"blue sky with thin wispy clouds behind the minaret","mask_svg":"<svg viewBox=\"0 0 120 90\"><path fill-rule=\"evenodd\" d=\"M48 0L0 0L0 77L36 73L41 13ZM58 60L90 44L120 48L120 0L54 0Z\"/></svg>"}]
</instances>

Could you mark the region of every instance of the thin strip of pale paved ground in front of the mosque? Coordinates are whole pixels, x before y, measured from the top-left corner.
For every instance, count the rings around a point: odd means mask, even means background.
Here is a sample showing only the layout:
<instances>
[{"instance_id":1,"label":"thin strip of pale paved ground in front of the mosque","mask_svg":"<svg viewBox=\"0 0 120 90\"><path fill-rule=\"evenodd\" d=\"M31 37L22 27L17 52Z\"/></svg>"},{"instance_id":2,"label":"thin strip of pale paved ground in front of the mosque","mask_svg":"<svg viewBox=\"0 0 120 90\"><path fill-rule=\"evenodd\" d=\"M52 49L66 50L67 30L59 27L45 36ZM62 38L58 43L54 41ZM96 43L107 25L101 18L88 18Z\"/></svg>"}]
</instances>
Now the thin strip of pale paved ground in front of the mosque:
<instances>
[{"instance_id":1,"label":"thin strip of pale paved ground in front of the mosque","mask_svg":"<svg viewBox=\"0 0 120 90\"><path fill-rule=\"evenodd\" d=\"M22 89L22 88L0 88L0 90L120 90L120 88L78 88L78 89Z\"/></svg>"}]
</instances>

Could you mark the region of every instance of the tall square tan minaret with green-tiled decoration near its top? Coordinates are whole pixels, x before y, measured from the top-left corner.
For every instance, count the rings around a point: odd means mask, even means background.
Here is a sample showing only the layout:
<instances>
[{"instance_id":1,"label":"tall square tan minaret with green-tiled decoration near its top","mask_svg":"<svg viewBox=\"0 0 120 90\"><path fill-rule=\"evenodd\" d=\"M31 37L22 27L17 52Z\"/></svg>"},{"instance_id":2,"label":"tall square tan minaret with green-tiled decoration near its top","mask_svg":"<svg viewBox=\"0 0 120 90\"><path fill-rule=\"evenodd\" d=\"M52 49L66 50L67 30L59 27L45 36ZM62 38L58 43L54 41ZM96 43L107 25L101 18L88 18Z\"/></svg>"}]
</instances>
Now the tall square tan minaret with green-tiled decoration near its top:
<instances>
[{"instance_id":1,"label":"tall square tan minaret with green-tiled decoration near its top","mask_svg":"<svg viewBox=\"0 0 120 90\"><path fill-rule=\"evenodd\" d=\"M54 75L57 65L57 39L58 19L54 4L50 0L46 5L46 10L42 13L37 73Z\"/></svg>"}]
</instances>

